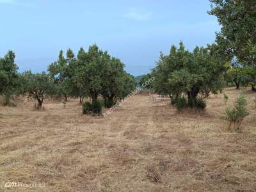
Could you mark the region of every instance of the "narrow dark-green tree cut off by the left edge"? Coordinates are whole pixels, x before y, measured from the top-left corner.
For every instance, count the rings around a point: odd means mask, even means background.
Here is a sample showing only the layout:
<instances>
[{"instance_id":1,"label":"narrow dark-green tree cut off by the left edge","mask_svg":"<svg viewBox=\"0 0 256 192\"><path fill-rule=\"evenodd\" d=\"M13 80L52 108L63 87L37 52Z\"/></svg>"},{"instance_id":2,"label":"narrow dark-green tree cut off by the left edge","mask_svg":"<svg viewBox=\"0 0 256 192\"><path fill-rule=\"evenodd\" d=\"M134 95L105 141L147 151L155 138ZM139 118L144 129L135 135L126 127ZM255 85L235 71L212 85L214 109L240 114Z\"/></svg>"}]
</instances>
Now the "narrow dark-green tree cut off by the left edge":
<instances>
[{"instance_id":1,"label":"narrow dark-green tree cut off by the left edge","mask_svg":"<svg viewBox=\"0 0 256 192\"><path fill-rule=\"evenodd\" d=\"M4 105L10 106L10 97L17 93L19 87L18 67L12 51L0 58L0 95L5 97Z\"/></svg>"}]
</instances>

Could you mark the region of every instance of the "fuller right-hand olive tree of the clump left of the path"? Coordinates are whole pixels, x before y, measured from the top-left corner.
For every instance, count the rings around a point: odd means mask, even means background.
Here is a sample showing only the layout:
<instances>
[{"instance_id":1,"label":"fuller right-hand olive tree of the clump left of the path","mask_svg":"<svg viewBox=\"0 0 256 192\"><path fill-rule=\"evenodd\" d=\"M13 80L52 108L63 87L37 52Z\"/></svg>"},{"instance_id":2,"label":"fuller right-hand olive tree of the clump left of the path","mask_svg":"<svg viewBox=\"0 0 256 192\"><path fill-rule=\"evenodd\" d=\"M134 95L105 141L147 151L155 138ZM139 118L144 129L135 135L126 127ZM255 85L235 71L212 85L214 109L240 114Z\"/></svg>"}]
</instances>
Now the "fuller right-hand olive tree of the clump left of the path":
<instances>
[{"instance_id":1,"label":"fuller right-hand olive tree of the clump left of the path","mask_svg":"<svg viewBox=\"0 0 256 192\"><path fill-rule=\"evenodd\" d=\"M87 90L93 102L102 95L108 107L126 97L135 89L135 79L124 71L124 64L97 45L89 47L83 57L78 57L76 79Z\"/></svg>"}]
</instances>

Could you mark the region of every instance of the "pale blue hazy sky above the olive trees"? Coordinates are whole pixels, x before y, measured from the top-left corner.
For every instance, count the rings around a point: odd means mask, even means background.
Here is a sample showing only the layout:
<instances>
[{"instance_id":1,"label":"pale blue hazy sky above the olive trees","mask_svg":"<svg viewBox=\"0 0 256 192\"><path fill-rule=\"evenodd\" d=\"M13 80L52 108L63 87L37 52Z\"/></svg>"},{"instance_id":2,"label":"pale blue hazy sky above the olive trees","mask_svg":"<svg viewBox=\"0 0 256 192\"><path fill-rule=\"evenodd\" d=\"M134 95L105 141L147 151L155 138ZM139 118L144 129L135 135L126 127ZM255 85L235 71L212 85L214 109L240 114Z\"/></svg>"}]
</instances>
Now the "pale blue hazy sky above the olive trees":
<instances>
[{"instance_id":1,"label":"pale blue hazy sky above the olive trees","mask_svg":"<svg viewBox=\"0 0 256 192\"><path fill-rule=\"evenodd\" d=\"M47 70L58 52L96 43L138 76L182 40L191 50L220 29L208 0L0 0L0 56L15 51L20 71Z\"/></svg>"}]
</instances>

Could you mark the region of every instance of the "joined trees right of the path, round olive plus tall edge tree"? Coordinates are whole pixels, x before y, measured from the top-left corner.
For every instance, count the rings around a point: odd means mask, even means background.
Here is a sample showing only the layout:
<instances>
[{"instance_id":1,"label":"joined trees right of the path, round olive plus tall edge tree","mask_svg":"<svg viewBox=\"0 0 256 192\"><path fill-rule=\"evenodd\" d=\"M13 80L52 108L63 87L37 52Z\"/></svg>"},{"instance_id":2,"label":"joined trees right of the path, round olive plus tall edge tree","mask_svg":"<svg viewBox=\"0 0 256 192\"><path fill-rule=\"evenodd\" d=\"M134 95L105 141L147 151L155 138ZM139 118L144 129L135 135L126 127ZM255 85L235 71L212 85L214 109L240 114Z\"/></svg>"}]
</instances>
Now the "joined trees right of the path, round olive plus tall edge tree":
<instances>
[{"instance_id":1,"label":"joined trees right of the path, round olive plus tall edge tree","mask_svg":"<svg viewBox=\"0 0 256 192\"><path fill-rule=\"evenodd\" d=\"M169 95L178 109L204 109L204 97L227 86L250 86L256 92L256 1L210 2L208 13L221 25L215 42L193 51L182 42L179 47L173 45L168 55L161 53L152 72L141 77L143 83L153 76L154 83L147 88Z\"/></svg>"}]
</instances>

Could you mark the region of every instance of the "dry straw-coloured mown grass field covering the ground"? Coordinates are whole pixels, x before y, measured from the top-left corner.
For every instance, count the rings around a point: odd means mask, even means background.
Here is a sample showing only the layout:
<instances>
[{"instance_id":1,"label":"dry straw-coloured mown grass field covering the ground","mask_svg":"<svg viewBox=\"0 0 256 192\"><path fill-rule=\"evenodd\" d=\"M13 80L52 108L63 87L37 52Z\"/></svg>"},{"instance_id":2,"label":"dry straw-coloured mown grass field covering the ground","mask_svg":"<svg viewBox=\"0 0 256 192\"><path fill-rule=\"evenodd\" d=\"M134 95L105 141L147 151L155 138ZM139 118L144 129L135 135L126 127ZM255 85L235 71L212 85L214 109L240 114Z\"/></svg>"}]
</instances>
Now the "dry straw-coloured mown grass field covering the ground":
<instances>
[{"instance_id":1,"label":"dry straw-coloured mown grass field covering the ground","mask_svg":"<svg viewBox=\"0 0 256 192\"><path fill-rule=\"evenodd\" d=\"M239 91L228 88L232 105ZM0 191L256 191L255 93L241 133L227 131L223 95L205 112L177 113L148 93L107 118L82 115L78 100L20 99L0 107ZM44 186L4 188L6 182Z\"/></svg>"}]
</instances>

